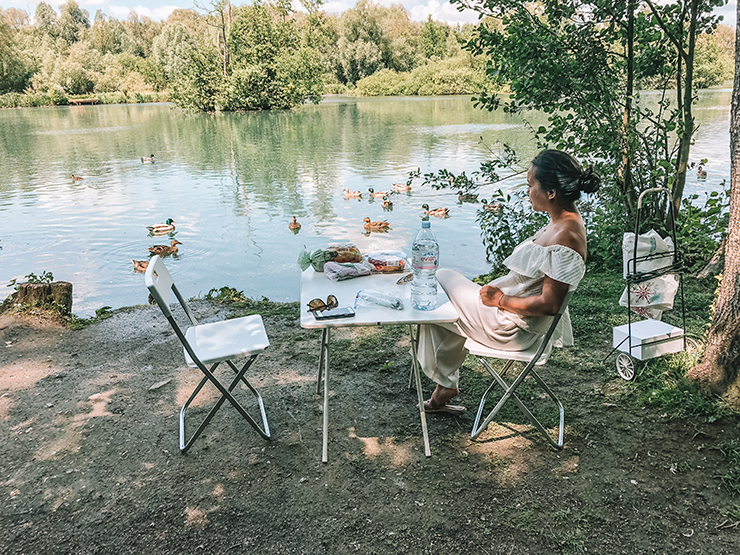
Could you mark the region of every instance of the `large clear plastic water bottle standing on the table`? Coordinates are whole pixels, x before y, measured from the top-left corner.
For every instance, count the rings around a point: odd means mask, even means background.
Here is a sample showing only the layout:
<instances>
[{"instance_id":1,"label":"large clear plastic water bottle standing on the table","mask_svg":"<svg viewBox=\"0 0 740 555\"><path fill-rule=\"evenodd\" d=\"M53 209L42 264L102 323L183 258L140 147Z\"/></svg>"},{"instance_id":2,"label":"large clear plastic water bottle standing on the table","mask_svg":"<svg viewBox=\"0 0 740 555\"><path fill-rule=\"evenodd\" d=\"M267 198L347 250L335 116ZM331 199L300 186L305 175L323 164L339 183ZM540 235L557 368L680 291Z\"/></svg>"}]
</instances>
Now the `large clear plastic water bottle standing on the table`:
<instances>
[{"instance_id":1,"label":"large clear plastic water bottle standing on the table","mask_svg":"<svg viewBox=\"0 0 740 555\"><path fill-rule=\"evenodd\" d=\"M437 267L439 245L432 233L432 222L421 222L421 230L411 245L411 306L416 310L434 310L437 306Z\"/></svg>"}]
</instances>

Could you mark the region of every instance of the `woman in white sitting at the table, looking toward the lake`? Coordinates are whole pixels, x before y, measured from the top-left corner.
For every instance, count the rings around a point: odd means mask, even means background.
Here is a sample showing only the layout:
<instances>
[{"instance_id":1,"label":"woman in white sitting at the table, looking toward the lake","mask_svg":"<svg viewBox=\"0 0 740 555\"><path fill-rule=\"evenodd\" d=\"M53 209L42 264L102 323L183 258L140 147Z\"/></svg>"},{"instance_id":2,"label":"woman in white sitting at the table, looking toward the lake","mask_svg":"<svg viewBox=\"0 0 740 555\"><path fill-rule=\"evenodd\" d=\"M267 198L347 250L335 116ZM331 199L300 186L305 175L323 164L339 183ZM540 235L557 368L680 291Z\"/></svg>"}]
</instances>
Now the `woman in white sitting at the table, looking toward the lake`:
<instances>
[{"instance_id":1,"label":"woman in white sitting at the table, looking toward the lake","mask_svg":"<svg viewBox=\"0 0 740 555\"><path fill-rule=\"evenodd\" d=\"M550 222L504 260L509 273L481 287L453 270L437 271L460 319L455 324L421 326L419 363L437 383L424 410L465 411L449 402L458 394L468 337L494 349L521 351L547 332L566 293L575 290L586 272L586 228L575 201L581 191L597 191L600 182L591 168L584 171L571 155L540 152L527 173L527 193L532 209L547 212ZM573 344L567 311L552 341L557 346Z\"/></svg>"}]
</instances>

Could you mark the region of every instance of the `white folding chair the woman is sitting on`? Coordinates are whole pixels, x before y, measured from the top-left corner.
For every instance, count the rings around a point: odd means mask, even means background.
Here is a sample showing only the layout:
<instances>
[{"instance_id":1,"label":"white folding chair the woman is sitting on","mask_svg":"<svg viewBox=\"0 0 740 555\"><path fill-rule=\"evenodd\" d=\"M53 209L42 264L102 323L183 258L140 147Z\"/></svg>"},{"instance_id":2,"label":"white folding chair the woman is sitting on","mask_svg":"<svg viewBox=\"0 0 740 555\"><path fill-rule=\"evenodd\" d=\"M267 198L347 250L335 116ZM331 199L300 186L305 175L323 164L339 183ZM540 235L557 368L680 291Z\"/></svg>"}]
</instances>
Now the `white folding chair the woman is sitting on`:
<instances>
[{"instance_id":1,"label":"white folding chair the woman is sitting on","mask_svg":"<svg viewBox=\"0 0 740 555\"><path fill-rule=\"evenodd\" d=\"M565 423L565 411L563 409L563 404L560 402L560 400L555 396L555 394L552 392L552 390L547 386L547 384L540 378L540 376L535 372L534 367L535 366L541 366L547 362L547 358L550 356L550 351L552 350L552 344L550 343L550 338L552 337L553 332L555 331L555 327L558 325L558 322L560 321L560 318L562 317L563 313L565 312L565 309L568 308L568 303L570 303L570 299L573 296L573 292L569 291L568 294L565 296L565 299L563 300L563 304L560 307L560 310L555 315L555 317L552 320L552 324L550 324L550 328L547 330L547 333L542 336L542 339L540 341L536 341L534 345L532 345L530 348L524 350L524 351L500 351L498 349L492 349L490 347L486 347L485 345L481 345L477 341L473 341L472 339L468 338L467 341L465 341L465 348L470 351L470 354L475 356L478 361L483 365L483 367L488 370L488 373L493 376L494 381L491 383L491 385L488 387L486 392L483 394L483 397L481 397L480 405L478 406L478 414L475 417L475 422L473 423L473 431L470 433L471 439L477 438L483 430L488 427L488 424L491 423L491 421L496 417L498 412L501 410L501 408L504 406L504 404L509 400L512 399L514 403L519 407L519 409L524 413L524 415L529 418L530 422L534 425L537 430L540 431L540 433L547 438L547 440L550 442L550 445L552 445L555 449L562 449L563 448L563 428ZM504 367L501 369L500 372L496 372L488 362L488 358L497 358L501 360L505 360L506 363L504 364ZM516 379L512 382L512 384L509 386L504 381L503 376L505 375L506 371L511 367L514 362L526 362L526 366L524 369L519 373L519 375L516 377ZM532 377L535 379L535 381L542 387L542 389L550 396L550 399L552 399L555 404L558 406L558 410L560 412L560 425L558 426L558 441L555 442L552 437L550 437L550 434L547 433L547 430L545 430L545 427L540 423L540 421L537 419L537 417L532 414L532 412L525 406L525 404L522 402L522 400L517 397L516 395L516 389L521 385L521 383L524 381L524 379L532 375ZM486 419L480 423L481 416L483 414L483 409L486 405L486 399L488 397L488 394L491 392L491 390L496 386L500 385L503 390L504 394L499 399L496 406L493 408L493 410L488 413L488 416Z\"/></svg>"}]
</instances>

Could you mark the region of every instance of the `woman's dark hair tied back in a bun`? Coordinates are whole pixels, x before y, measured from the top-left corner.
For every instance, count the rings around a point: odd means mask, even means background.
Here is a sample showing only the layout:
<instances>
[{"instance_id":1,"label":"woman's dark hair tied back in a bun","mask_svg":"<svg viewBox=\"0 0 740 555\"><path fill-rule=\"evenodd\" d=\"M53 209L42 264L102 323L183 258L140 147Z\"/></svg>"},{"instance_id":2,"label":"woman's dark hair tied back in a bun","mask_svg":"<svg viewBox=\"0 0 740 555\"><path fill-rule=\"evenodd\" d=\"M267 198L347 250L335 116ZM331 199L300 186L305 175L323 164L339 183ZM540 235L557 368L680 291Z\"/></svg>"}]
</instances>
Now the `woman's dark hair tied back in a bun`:
<instances>
[{"instance_id":1,"label":"woman's dark hair tied back in a bun","mask_svg":"<svg viewBox=\"0 0 740 555\"><path fill-rule=\"evenodd\" d=\"M555 191L563 201L574 201L584 193L595 193L601 178L593 168L581 168L578 161L562 150L543 150L534 160L534 176L545 191Z\"/></svg>"}]
</instances>

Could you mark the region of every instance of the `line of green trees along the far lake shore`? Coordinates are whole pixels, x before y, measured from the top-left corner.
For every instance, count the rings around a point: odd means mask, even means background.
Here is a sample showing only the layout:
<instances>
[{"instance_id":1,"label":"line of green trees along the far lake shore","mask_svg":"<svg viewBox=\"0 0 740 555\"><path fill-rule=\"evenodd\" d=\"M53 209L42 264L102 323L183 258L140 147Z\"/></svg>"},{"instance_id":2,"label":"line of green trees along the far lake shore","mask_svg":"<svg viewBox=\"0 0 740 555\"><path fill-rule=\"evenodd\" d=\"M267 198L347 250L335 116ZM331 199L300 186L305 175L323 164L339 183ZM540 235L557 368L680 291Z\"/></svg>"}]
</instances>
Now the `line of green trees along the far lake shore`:
<instances>
[{"instance_id":1,"label":"line of green trees along the far lake shore","mask_svg":"<svg viewBox=\"0 0 740 555\"><path fill-rule=\"evenodd\" d=\"M490 56L470 44L503 18L449 25L410 20L400 4L360 0L337 15L324 0L232 6L214 0L161 22L131 12L94 18L75 0L31 18L0 8L0 106L172 100L199 111L291 108L325 94L439 95L506 92L486 76ZM697 41L695 81L730 79L734 31L720 26ZM649 79L641 83L650 88Z\"/></svg>"}]
</instances>

